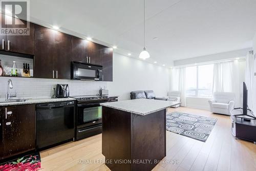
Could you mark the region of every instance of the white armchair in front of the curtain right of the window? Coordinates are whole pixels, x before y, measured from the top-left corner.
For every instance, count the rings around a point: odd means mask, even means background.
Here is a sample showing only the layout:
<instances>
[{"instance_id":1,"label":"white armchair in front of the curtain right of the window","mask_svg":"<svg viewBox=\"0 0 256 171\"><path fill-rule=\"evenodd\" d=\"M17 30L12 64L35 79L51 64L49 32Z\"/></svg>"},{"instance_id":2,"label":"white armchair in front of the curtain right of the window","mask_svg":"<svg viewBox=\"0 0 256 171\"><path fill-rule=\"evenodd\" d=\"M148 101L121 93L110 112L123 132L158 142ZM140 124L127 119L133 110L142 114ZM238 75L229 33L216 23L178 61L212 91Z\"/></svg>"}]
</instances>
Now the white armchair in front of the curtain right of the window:
<instances>
[{"instance_id":1,"label":"white armchair in front of the curtain right of the window","mask_svg":"<svg viewBox=\"0 0 256 171\"><path fill-rule=\"evenodd\" d=\"M214 99L209 100L210 112L224 115L231 115L234 109L234 93L215 92Z\"/></svg>"}]
</instances>

